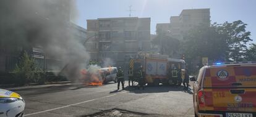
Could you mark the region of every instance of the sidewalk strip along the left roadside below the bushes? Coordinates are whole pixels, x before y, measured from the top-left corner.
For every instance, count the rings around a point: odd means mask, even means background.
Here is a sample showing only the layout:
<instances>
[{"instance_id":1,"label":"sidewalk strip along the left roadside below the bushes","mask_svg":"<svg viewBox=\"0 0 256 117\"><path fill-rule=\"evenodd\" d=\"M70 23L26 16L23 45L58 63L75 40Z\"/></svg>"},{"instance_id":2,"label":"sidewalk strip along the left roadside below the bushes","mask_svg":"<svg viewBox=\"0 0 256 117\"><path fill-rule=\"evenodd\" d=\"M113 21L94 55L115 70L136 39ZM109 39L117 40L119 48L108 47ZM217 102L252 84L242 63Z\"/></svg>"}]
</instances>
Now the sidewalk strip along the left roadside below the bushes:
<instances>
[{"instance_id":1,"label":"sidewalk strip along the left roadside below the bushes","mask_svg":"<svg viewBox=\"0 0 256 117\"><path fill-rule=\"evenodd\" d=\"M62 81L62 82L46 83L43 85L31 84L30 86L20 86L20 87L14 87L13 85L0 85L0 89L15 91L15 90L35 89L35 88L41 88L41 87L63 86L63 85L71 85L71 83L70 81Z\"/></svg>"}]
</instances>

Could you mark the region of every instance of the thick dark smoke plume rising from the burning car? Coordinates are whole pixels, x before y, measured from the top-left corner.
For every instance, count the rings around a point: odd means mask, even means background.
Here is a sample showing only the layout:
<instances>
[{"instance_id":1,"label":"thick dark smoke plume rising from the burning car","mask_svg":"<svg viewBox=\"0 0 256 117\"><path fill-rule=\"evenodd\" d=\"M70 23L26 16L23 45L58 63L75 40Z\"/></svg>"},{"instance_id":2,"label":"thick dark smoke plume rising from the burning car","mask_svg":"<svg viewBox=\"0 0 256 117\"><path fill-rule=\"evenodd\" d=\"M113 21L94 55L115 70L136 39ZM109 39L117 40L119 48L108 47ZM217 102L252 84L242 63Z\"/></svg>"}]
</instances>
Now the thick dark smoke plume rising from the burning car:
<instances>
[{"instance_id":1,"label":"thick dark smoke plume rising from the burning car","mask_svg":"<svg viewBox=\"0 0 256 117\"><path fill-rule=\"evenodd\" d=\"M83 44L70 28L74 20L75 1L69 0L2 0L0 1L1 48L43 47L49 58L66 65L68 78L76 78L90 59ZM59 68L61 70L61 68Z\"/></svg>"}]
</instances>

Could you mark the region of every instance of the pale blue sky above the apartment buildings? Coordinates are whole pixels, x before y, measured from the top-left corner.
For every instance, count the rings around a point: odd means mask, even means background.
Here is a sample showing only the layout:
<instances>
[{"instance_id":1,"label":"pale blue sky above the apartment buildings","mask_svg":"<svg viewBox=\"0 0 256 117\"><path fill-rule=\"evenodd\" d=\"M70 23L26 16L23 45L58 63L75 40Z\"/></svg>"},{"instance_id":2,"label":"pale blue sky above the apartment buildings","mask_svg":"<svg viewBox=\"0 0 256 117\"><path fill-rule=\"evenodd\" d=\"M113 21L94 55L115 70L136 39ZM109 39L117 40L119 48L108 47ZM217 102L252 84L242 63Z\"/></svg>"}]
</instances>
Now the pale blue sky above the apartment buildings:
<instances>
[{"instance_id":1,"label":"pale blue sky above the apartment buildings","mask_svg":"<svg viewBox=\"0 0 256 117\"><path fill-rule=\"evenodd\" d=\"M247 23L250 38L256 43L256 1L254 0L76 0L77 25L87 28L88 19L129 17L150 17L151 34L155 34L156 23L169 23L171 16L177 16L183 9L210 8L211 23L242 20Z\"/></svg>"}]
</instances>

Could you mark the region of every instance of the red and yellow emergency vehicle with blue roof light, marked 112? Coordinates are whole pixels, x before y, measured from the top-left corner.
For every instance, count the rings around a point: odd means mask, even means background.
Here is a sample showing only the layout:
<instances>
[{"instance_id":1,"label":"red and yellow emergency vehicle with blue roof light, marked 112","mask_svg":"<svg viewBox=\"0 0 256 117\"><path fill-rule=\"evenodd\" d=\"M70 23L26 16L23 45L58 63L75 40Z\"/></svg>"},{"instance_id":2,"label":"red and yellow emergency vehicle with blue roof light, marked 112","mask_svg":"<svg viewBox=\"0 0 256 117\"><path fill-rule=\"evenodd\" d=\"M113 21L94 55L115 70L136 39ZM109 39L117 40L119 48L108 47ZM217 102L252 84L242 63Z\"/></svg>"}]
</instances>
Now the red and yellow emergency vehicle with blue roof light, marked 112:
<instances>
[{"instance_id":1,"label":"red and yellow emergency vehicle with blue roof light, marked 112","mask_svg":"<svg viewBox=\"0 0 256 117\"><path fill-rule=\"evenodd\" d=\"M202 67L194 83L195 116L256 116L256 63Z\"/></svg>"}]
</instances>

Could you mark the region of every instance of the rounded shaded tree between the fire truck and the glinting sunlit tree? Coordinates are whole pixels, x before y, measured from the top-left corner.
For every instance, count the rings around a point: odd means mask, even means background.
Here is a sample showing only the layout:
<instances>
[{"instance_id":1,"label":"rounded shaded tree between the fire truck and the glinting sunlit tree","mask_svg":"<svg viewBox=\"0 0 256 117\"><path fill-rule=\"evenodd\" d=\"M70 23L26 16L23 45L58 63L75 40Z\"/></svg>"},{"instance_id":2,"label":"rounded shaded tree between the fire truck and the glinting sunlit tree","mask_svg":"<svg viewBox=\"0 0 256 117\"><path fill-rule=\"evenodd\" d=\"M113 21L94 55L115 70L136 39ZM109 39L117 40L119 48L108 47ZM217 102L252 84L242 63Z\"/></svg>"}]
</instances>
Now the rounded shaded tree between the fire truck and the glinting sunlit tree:
<instances>
[{"instance_id":1,"label":"rounded shaded tree between the fire truck and the glinting sunlit tree","mask_svg":"<svg viewBox=\"0 0 256 117\"><path fill-rule=\"evenodd\" d=\"M228 44L226 37L220 34L214 23L211 26L200 25L193 30L189 30L184 35L183 50L186 55L186 62L190 70L195 70L196 66L202 66L202 57L209 60L224 60Z\"/></svg>"}]
</instances>

